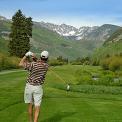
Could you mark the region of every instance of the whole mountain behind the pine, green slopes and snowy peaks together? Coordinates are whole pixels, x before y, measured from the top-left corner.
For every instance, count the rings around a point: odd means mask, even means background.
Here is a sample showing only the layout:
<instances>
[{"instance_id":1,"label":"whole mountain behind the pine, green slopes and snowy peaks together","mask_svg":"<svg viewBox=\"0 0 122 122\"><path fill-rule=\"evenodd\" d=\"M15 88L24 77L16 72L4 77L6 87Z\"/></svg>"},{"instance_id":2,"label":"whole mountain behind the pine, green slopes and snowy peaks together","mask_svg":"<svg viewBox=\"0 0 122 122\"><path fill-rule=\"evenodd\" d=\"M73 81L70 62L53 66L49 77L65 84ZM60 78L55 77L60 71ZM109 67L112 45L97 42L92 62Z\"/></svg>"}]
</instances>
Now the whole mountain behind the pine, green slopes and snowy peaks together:
<instances>
[{"instance_id":1,"label":"whole mountain behind the pine, green slopes and snowy peaks together","mask_svg":"<svg viewBox=\"0 0 122 122\"><path fill-rule=\"evenodd\" d=\"M0 51L7 52L11 21L0 18ZM40 51L48 50L51 57L63 56L69 59L90 56L96 47L102 45L102 39L108 38L117 28L114 25L103 25L77 29L66 24L34 22L31 50L38 55Z\"/></svg>"}]
</instances>

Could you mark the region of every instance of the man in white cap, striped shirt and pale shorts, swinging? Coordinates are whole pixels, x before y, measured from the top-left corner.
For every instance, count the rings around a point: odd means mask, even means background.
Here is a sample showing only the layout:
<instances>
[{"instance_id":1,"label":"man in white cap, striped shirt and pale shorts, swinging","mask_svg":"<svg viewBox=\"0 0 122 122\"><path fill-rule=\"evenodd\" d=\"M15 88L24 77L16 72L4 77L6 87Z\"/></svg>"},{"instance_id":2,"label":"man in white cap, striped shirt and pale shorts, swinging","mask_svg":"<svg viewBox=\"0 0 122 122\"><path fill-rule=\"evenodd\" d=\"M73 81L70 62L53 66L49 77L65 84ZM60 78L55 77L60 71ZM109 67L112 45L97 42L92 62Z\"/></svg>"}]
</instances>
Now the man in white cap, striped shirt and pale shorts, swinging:
<instances>
[{"instance_id":1,"label":"man in white cap, striped shirt and pale shorts, swinging","mask_svg":"<svg viewBox=\"0 0 122 122\"><path fill-rule=\"evenodd\" d=\"M19 66L29 71L29 76L26 81L24 101L28 103L29 122L38 122L40 111L40 104L43 96L42 84L45 80L45 75L48 70L48 52L43 51L39 60L28 61L27 57L36 59L35 54L27 52L21 59ZM34 118L33 118L33 105L34 105Z\"/></svg>"}]
</instances>

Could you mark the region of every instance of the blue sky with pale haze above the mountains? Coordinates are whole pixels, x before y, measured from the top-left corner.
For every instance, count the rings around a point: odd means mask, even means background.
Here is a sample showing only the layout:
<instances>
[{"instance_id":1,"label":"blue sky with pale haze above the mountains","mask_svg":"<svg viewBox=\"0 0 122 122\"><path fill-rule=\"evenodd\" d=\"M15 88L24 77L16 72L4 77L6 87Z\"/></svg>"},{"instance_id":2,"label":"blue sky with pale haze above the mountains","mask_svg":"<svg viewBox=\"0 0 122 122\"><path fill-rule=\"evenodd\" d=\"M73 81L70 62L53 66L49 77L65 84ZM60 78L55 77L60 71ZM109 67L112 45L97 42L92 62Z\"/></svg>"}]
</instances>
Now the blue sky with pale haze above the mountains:
<instances>
[{"instance_id":1,"label":"blue sky with pale haze above the mountains","mask_svg":"<svg viewBox=\"0 0 122 122\"><path fill-rule=\"evenodd\" d=\"M35 21L122 26L122 0L0 0L0 15L11 18L18 9Z\"/></svg>"}]
</instances>

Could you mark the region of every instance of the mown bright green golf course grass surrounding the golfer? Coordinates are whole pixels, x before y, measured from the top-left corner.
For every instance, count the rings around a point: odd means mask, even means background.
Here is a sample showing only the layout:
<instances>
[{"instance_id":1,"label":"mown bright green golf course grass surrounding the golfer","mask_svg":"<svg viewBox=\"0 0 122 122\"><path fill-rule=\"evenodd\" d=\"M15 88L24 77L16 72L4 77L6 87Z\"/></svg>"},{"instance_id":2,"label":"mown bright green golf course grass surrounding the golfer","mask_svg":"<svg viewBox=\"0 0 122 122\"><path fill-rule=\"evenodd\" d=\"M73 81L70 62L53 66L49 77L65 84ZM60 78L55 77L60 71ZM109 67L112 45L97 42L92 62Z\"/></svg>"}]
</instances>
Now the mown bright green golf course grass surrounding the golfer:
<instances>
[{"instance_id":1,"label":"mown bright green golf course grass surrounding the golfer","mask_svg":"<svg viewBox=\"0 0 122 122\"><path fill-rule=\"evenodd\" d=\"M64 80L76 82L73 75L80 66L51 68ZM27 72L0 73L0 122L28 122L23 92ZM39 122L122 122L122 94L85 94L66 92L55 86L64 82L49 71Z\"/></svg>"}]
</instances>

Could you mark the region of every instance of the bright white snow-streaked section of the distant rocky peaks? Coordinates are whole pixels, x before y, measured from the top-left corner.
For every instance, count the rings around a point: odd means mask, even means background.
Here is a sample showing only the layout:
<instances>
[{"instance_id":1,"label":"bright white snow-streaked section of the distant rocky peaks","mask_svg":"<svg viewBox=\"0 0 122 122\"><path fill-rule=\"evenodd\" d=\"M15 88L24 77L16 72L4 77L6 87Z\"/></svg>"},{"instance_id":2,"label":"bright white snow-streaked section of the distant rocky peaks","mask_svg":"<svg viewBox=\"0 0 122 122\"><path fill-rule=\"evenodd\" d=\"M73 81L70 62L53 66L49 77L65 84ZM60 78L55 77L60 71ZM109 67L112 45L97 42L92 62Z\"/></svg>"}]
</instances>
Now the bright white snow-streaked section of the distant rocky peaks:
<instances>
[{"instance_id":1,"label":"bright white snow-streaked section of the distant rocky peaks","mask_svg":"<svg viewBox=\"0 0 122 122\"><path fill-rule=\"evenodd\" d=\"M64 37L75 36L76 40L83 39L84 36L87 36L91 31L98 28L97 26L95 27L84 26L84 27L76 28L76 27L73 27L71 25L66 25L66 24L56 25L56 24L45 23L45 22L40 22L40 25L42 27L55 31L59 35L64 36Z\"/></svg>"}]
</instances>

